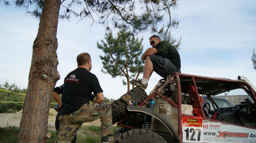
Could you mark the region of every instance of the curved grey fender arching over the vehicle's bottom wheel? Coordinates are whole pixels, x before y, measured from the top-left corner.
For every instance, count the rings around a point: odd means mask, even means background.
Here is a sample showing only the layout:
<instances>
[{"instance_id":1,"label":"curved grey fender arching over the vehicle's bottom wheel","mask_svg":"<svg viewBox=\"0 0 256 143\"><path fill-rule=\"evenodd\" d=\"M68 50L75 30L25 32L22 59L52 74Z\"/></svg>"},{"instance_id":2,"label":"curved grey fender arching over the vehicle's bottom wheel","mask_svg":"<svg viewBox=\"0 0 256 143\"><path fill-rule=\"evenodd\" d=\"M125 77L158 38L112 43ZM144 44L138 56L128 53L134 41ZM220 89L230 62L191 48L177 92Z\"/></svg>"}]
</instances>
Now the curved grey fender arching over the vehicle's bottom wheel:
<instances>
[{"instance_id":1,"label":"curved grey fender arching over the vehicle's bottom wheel","mask_svg":"<svg viewBox=\"0 0 256 143\"><path fill-rule=\"evenodd\" d=\"M146 107L142 107L142 106L127 106L127 109L128 109L128 111L137 111L137 112L146 113L146 114L149 114L152 117L156 118L157 120L162 122L167 127L167 129L170 131L170 133L178 141L180 141L180 138L179 138L178 134L176 133L176 131L173 129L173 126L163 116L161 116L156 111L154 111L152 109L149 109L149 108L146 108Z\"/></svg>"}]
</instances>

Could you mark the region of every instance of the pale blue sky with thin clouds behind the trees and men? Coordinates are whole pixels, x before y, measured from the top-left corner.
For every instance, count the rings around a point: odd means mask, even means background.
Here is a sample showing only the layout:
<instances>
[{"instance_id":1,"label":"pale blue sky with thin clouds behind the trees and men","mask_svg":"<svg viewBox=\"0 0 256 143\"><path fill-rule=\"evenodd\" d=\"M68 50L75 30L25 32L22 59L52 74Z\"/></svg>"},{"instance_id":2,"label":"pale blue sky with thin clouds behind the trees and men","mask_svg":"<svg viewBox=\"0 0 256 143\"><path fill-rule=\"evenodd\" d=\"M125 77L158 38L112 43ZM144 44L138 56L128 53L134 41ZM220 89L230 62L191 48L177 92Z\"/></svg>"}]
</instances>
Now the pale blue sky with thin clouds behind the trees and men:
<instances>
[{"instance_id":1,"label":"pale blue sky with thin clouds behind the trees and men","mask_svg":"<svg viewBox=\"0 0 256 143\"><path fill-rule=\"evenodd\" d=\"M255 0L179 1L178 9L172 10L171 16L180 21L179 27L172 30L172 36L182 37L181 72L230 79L245 76L256 87L256 70L251 62L256 48L255 7ZM21 89L27 88L38 24L39 21L25 15L24 10L5 7L0 2L0 84L8 81ZM102 25L90 24L91 21L78 22L76 18L59 20L57 70L61 78L56 86L62 85L66 74L76 69L76 56L87 52L92 58L91 72L99 79L104 96L118 99L127 92L127 86L122 85L122 78L102 73L99 55L103 52L97 48L97 41L104 39L106 31ZM136 36L144 38L143 51L151 47L150 33ZM147 94L159 79L161 76L153 72L145 90Z\"/></svg>"}]
</instances>

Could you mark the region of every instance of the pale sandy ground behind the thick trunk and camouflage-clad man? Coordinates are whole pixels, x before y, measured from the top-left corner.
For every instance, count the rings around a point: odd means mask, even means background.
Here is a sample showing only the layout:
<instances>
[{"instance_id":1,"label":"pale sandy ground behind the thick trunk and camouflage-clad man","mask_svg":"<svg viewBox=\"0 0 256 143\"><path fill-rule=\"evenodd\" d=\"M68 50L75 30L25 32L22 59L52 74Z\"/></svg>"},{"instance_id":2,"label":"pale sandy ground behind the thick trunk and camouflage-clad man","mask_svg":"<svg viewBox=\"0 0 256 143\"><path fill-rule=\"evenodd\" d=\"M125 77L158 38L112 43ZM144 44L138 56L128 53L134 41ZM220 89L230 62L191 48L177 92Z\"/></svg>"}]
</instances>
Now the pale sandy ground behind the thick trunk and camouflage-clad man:
<instances>
[{"instance_id":1,"label":"pale sandy ground behind the thick trunk and camouflage-clad man","mask_svg":"<svg viewBox=\"0 0 256 143\"><path fill-rule=\"evenodd\" d=\"M55 118L57 115L57 112L50 108L50 113L54 114L53 116L48 117L48 129L49 130L55 130ZM19 127L21 122L22 112L17 113L2 113L0 114L0 127L7 127L9 126L16 126ZM88 126L88 125L95 125L100 126L100 119L97 119L93 122L85 122L82 126Z\"/></svg>"}]
</instances>

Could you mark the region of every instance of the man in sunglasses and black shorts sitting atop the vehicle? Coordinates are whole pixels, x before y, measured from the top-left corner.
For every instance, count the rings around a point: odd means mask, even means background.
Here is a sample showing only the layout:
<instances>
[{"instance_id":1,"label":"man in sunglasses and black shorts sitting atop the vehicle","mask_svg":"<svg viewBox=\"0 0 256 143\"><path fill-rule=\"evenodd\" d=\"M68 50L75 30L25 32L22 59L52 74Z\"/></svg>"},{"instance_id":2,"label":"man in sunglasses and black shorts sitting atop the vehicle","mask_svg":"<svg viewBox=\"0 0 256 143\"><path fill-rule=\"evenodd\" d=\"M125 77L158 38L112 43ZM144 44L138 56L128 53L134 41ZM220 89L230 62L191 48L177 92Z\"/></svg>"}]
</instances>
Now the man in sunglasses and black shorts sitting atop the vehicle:
<instances>
[{"instance_id":1,"label":"man in sunglasses and black shorts sitting atop the vehicle","mask_svg":"<svg viewBox=\"0 0 256 143\"><path fill-rule=\"evenodd\" d=\"M152 48L148 48L142 54L141 59L145 60L143 78L141 81L132 80L131 84L142 89L147 88L147 83L153 72L166 78L175 71L180 72L180 55L175 46L166 41L161 41L159 36L153 35L149 38Z\"/></svg>"}]
</instances>

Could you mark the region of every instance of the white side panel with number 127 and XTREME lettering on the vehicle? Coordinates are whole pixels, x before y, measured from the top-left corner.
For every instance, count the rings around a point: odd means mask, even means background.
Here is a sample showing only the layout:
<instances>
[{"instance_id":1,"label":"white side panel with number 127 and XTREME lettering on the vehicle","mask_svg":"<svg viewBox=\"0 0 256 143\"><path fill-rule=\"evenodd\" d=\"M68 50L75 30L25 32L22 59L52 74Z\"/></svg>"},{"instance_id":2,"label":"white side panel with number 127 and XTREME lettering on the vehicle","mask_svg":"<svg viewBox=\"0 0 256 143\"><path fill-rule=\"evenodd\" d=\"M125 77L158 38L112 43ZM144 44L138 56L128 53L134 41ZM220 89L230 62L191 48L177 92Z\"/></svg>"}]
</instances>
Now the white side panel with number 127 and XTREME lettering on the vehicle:
<instances>
[{"instance_id":1,"label":"white side panel with number 127 and XTREME lettering on the vehicle","mask_svg":"<svg viewBox=\"0 0 256 143\"><path fill-rule=\"evenodd\" d=\"M193 123L200 118L183 117L183 143L256 143L256 129L210 120L201 120L201 127Z\"/></svg>"}]
</instances>

